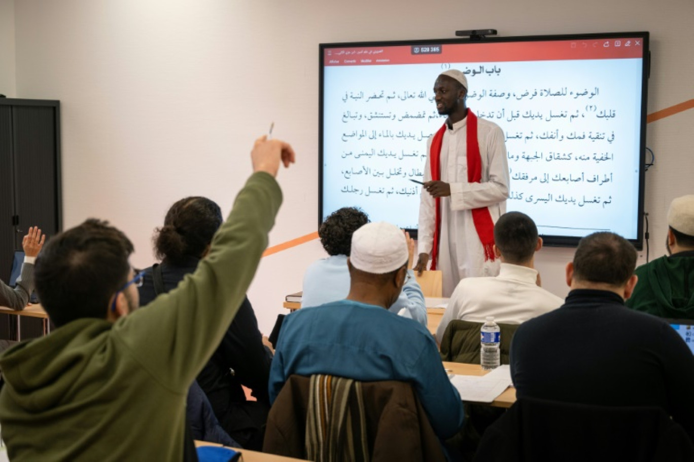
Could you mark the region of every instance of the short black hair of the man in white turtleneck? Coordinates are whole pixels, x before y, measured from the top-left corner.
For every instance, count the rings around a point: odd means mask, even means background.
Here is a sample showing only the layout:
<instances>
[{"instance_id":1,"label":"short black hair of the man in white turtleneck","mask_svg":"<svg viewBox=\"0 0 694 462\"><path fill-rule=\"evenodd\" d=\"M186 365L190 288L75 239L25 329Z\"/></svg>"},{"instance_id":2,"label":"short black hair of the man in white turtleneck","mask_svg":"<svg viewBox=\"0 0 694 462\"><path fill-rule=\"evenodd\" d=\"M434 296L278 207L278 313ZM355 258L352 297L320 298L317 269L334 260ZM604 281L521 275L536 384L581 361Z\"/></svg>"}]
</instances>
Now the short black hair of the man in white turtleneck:
<instances>
[{"instance_id":1,"label":"short black hair of the man in white turtleneck","mask_svg":"<svg viewBox=\"0 0 694 462\"><path fill-rule=\"evenodd\" d=\"M507 263L525 263L535 254L537 226L521 212L508 212L494 224L494 243Z\"/></svg>"}]
</instances>

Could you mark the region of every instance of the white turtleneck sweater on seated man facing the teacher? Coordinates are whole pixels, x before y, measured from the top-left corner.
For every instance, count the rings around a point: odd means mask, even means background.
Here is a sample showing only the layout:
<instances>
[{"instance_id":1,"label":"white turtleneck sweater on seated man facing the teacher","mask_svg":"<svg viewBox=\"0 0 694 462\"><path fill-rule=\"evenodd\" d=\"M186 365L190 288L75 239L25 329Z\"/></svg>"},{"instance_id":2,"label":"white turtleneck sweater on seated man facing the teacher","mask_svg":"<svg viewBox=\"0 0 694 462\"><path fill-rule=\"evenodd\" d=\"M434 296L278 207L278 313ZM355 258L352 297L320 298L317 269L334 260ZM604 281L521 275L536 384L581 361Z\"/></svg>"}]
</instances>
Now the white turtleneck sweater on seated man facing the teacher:
<instances>
[{"instance_id":1,"label":"white turtleneck sweater on seated man facing the teacher","mask_svg":"<svg viewBox=\"0 0 694 462\"><path fill-rule=\"evenodd\" d=\"M437 341L441 343L453 319L484 323L493 316L496 323L521 324L564 305L564 299L538 287L536 281L536 269L509 263L501 264L496 278L460 281L441 317Z\"/></svg>"}]
</instances>

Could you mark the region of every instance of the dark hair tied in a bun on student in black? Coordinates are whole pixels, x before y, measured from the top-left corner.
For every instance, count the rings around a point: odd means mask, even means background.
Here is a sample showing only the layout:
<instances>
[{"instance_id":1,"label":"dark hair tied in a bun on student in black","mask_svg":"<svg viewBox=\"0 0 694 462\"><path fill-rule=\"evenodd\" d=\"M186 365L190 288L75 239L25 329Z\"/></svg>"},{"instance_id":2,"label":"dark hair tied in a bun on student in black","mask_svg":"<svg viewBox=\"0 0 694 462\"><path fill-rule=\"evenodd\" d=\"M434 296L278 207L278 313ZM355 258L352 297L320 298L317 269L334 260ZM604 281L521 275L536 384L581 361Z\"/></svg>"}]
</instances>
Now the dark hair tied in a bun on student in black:
<instances>
[{"instance_id":1,"label":"dark hair tied in a bun on student in black","mask_svg":"<svg viewBox=\"0 0 694 462\"><path fill-rule=\"evenodd\" d=\"M200 258L221 226L221 208L207 197L185 197L169 208L164 226L155 230L157 258L181 263L188 256Z\"/></svg>"}]
</instances>

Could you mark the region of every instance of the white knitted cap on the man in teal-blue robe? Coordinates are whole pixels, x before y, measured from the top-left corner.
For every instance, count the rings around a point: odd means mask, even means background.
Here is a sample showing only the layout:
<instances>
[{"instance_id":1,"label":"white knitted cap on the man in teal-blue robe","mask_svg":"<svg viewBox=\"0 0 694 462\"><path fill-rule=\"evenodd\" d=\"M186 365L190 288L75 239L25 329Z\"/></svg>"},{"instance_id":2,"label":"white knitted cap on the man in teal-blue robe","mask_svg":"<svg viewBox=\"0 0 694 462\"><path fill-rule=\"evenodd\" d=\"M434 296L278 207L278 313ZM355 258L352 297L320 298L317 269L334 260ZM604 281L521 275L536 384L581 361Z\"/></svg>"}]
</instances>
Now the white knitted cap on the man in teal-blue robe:
<instances>
[{"instance_id":1,"label":"white knitted cap on the man in teal-blue robe","mask_svg":"<svg viewBox=\"0 0 694 462\"><path fill-rule=\"evenodd\" d=\"M405 234L394 224L367 223L352 235L349 260L363 272L389 273L405 265L407 258Z\"/></svg>"}]
</instances>

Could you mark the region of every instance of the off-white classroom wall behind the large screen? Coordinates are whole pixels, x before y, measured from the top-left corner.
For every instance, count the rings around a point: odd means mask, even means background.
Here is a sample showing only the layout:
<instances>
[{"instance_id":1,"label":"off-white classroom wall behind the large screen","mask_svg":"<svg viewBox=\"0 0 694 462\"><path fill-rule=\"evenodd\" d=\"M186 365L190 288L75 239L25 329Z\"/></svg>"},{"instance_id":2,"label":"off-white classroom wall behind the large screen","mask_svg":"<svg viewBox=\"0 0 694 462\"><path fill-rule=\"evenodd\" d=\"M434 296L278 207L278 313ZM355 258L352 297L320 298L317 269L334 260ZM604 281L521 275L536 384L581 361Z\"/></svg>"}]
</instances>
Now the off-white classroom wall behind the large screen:
<instances>
[{"instance_id":1,"label":"off-white classroom wall behind the large screen","mask_svg":"<svg viewBox=\"0 0 694 462\"><path fill-rule=\"evenodd\" d=\"M0 0L6 2L6 0ZM225 211L271 121L298 163L280 172L285 204L271 245L315 231L318 44L650 30L649 112L694 98L691 0L22 0L15 4L17 96L62 102L65 226L110 219L133 238L136 266L168 206L206 195ZM694 111L648 127L651 256L663 253L668 203L691 193ZM249 297L261 328L323 256L313 241L264 258ZM565 294L569 249L543 249L545 287Z\"/></svg>"}]
</instances>

